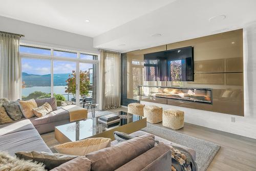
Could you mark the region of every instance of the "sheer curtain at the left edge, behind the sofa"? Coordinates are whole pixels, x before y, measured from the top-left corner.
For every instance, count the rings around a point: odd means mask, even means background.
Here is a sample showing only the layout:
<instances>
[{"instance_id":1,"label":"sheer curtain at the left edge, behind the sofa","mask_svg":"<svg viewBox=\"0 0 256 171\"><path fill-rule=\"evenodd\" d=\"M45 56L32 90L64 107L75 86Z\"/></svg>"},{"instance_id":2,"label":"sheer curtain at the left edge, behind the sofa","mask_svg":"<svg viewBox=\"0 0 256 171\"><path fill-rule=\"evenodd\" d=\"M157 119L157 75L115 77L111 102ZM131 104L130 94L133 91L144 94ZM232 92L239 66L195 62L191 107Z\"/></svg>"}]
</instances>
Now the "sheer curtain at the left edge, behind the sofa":
<instances>
[{"instance_id":1,"label":"sheer curtain at the left edge, behind the sofa","mask_svg":"<svg viewBox=\"0 0 256 171\"><path fill-rule=\"evenodd\" d=\"M19 36L0 33L0 98L19 98L19 69Z\"/></svg>"}]
</instances>

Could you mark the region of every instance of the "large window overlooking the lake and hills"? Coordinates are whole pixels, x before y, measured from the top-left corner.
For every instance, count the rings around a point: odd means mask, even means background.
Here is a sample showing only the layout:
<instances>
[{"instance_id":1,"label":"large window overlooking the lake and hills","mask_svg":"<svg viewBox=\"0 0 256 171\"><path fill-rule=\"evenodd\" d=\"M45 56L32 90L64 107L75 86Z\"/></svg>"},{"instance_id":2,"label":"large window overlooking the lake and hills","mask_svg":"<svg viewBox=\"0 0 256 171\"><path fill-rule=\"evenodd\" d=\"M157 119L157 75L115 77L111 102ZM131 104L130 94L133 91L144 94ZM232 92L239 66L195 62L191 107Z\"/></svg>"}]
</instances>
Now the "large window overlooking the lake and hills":
<instances>
[{"instance_id":1,"label":"large window overlooking the lake and hills","mask_svg":"<svg viewBox=\"0 0 256 171\"><path fill-rule=\"evenodd\" d=\"M20 56L23 100L56 97L77 105L83 99L97 102L97 54L20 45Z\"/></svg>"}]
</instances>

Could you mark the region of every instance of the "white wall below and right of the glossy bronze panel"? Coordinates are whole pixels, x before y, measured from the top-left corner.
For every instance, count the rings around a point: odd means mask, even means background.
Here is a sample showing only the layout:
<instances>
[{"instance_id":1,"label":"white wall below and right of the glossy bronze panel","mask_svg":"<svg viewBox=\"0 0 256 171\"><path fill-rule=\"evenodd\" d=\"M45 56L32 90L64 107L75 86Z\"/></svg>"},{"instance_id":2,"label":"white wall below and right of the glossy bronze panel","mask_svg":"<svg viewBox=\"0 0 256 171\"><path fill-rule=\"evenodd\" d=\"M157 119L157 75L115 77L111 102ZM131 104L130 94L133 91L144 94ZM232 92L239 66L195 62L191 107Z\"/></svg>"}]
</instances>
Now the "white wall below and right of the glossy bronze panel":
<instances>
[{"instance_id":1,"label":"white wall below and right of the glossy bronze panel","mask_svg":"<svg viewBox=\"0 0 256 171\"><path fill-rule=\"evenodd\" d=\"M256 139L256 23L244 28L244 117L145 101L141 103L182 110L185 122ZM235 117L236 122L231 122L231 117Z\"/></svg>"}]
</instances>

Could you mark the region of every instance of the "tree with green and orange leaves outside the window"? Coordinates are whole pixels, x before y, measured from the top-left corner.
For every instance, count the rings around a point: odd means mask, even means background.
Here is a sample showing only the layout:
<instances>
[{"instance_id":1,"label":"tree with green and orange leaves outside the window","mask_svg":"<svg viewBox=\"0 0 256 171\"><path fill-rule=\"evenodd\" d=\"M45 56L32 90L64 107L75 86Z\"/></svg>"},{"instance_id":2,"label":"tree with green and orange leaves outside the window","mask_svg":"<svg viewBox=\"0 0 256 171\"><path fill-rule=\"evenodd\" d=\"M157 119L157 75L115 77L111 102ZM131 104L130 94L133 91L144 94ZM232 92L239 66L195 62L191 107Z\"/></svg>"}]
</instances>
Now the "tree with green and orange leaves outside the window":
<instances>
[{"instance_id":1,"label":"tree with green and orange leaves outside the window","mask_svg":"<svg viewBox=\"0 0 256 171\"><path fill-rule=\"evenodd\" d=\"M67 87L66 93L76 94L76 72L72 71L72 74L69 75L69 78L66 80ZM88 71L80 71L80 95L89 96L90 89L90 78Z\"/></svg>"}]
</instances>

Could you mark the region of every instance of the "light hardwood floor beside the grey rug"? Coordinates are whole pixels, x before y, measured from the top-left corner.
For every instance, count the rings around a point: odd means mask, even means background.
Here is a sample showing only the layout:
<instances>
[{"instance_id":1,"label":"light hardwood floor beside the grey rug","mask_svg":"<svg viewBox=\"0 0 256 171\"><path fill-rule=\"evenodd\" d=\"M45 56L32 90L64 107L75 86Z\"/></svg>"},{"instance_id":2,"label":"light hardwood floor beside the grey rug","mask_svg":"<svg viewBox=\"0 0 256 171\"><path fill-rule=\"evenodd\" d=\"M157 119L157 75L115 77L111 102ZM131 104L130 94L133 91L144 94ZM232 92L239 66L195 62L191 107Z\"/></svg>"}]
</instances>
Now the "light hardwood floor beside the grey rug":
<instances>
[{"instance_id":1,"label":"light hardwood floor beside the grey rug","mask_svg":"<svg viewBox=\"0 0 256 171\"><path fill-rule=\"evenodd\" d=\"M119 108L118 110L127 111L126 108ZM256 171L256 139L190 123L184 123L183 129L177 130L177 132L221 145L207 171Z\"/></svg>"}]
</instances>

